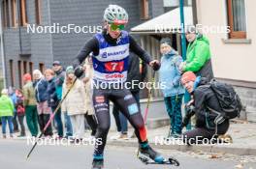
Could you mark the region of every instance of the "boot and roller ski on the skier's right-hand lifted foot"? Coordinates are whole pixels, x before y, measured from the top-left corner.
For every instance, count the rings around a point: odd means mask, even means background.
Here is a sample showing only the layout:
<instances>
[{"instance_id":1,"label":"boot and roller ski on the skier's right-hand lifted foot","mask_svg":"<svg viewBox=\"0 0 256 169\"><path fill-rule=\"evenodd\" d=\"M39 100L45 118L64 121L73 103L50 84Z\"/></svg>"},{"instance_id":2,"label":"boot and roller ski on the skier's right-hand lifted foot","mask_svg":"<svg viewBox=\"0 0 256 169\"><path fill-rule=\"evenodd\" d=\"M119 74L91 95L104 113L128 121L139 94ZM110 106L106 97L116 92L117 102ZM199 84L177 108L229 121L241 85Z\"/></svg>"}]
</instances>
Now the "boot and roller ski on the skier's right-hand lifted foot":
<instances>
[{"instance_id":1,"label":"boot and roller ski on the skier's right-hand lifted foot","mask_svg":"<svg viewBox=\"0 0 256 169\"><path fill-rule=\"evenodd\" d=\"M179 166L179 162L176 160L176 158L169 157L166 159L162 155L155 152L149 145L146 145L145 147L140 146L137 156L146 165L162 164Z\"/></svg>"}]
</instances>

